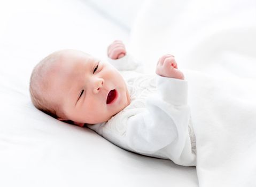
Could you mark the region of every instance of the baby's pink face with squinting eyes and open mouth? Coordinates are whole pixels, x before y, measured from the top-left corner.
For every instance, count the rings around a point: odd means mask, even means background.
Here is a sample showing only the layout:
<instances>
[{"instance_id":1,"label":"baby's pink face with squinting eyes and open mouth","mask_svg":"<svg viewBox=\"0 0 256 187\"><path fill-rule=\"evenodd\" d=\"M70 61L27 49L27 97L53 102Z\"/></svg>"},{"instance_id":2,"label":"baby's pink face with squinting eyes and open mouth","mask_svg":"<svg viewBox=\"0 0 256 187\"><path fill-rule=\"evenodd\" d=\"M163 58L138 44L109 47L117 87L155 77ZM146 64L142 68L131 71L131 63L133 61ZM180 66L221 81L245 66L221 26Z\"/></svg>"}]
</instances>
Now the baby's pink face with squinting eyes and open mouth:
<instances>
[{"instance_id":1,"label":"baby's pink face with squinting eyes and open mouth","mask_svg":"<svg viewBox=\"0 0 256 187\"><path fill-rule=\"evenodd\" d=\"M112 65L67 50L52 73L52 97L67 119L79 126L107 121L130 103L123 77Z\"/></svg>"}]
</instances>

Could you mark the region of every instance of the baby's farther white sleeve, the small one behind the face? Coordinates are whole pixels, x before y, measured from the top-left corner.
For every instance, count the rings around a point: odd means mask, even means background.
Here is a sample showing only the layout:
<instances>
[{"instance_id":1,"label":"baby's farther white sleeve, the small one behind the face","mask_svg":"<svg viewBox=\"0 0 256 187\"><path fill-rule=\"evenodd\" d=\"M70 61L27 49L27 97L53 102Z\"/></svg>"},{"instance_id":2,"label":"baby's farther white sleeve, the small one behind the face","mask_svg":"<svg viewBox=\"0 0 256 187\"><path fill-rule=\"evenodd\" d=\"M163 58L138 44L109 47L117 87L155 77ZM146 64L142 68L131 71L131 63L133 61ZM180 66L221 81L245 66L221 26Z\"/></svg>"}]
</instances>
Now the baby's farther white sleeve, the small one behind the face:
<instances>
[{"instance_id":1,"label":"baby's farther white sleeve, the small one behind the face","mask_svg":"<svg viewBox=\"0 0 256 187\"><path fill-rule=\"evenodd\" d=\"M129 53L119 59L108 58L108 62L117 68L119 71L138 71L143 72L143 65L139 61L135 60Z\"/></svg>"}]
</instances>

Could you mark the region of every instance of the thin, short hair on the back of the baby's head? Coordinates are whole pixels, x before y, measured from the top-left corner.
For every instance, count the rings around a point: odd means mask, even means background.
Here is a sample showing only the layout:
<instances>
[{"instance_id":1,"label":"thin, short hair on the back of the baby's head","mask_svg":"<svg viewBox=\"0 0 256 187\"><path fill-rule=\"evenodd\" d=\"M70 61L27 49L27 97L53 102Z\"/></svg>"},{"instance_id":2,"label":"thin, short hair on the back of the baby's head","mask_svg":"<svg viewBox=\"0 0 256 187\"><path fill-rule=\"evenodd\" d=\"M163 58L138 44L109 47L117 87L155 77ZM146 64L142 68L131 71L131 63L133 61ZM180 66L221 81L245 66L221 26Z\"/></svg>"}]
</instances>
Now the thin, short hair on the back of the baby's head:
<instances>
[{"instance_id":1,"label":"thin, short hair on the back of the baby's head","mask_svg":"<svg viewBox=\"0 0 256 187\"><path fill-rule=\"evenodd\" d=\"M53 99L49 99L51 80L49 75L52 66L60 60L61 51L53 52L38 63L30 76L29 92L32 103L38 110L51 115L53 118L63 118L64 114Z\"/></svg>"}]
</instances>

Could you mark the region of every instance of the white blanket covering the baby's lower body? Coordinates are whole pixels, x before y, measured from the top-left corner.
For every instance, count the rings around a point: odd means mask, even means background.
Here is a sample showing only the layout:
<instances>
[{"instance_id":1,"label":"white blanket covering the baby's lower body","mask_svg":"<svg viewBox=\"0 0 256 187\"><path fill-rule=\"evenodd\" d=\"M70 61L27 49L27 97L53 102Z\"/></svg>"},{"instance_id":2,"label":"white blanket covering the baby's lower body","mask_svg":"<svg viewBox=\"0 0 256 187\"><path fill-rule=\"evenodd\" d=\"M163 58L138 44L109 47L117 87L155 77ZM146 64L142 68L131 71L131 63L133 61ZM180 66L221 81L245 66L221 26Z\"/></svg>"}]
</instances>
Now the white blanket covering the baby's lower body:
<instances>
[{"instance_id":1,"label":"white blanket covering the baby's lower body","mask_svg":"<svg viewBox=\"0 0 256 187\"><path fill-rule=\"evenodd\" d=\"M256 186L256 80L187 79L199 186Z\"/></svg>"}]
</instances>

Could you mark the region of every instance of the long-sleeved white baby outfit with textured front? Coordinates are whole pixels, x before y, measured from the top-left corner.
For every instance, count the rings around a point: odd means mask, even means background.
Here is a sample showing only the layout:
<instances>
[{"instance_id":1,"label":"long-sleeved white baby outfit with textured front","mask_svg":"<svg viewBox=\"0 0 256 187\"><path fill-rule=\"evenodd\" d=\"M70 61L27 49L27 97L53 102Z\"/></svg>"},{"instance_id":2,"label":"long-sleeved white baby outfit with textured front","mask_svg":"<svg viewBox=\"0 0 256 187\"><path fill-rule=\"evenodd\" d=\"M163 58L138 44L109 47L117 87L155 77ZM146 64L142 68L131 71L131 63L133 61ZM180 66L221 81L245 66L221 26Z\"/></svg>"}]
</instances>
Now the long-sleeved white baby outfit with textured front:
<instances>
[{"instance_id":1,"label":"long-sleeved white baby outfit with textured front","mask_svg":"<svg viewBox=\"0 0 256 187\"><path fill-rule=\"evenodd\" d=\"M196 166L187 81L143 74L129 54L109 61L127 83L130 105L107 122L88 127L123 149Z\"/></svg>"}]
</instances>

